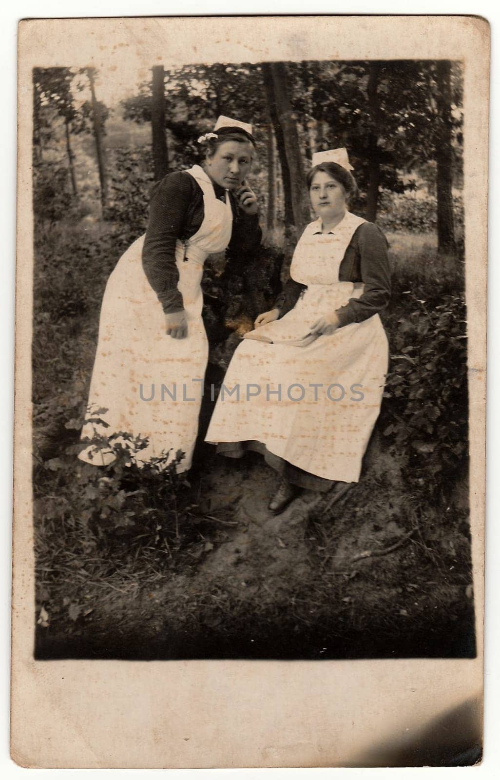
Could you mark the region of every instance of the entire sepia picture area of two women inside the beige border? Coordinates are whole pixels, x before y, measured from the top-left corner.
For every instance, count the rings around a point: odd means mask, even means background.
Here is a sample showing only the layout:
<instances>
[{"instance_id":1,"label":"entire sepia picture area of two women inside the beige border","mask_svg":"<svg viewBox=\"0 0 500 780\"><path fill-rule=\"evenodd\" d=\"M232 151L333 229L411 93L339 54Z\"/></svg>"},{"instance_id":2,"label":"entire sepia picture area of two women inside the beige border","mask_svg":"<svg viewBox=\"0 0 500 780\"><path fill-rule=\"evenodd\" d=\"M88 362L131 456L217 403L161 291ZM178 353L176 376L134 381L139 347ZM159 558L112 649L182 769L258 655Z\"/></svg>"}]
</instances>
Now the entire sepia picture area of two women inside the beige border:
<instances>
[{"instance_id":1,"label":"entire sepia picture area of two women inside the beige border","mask_svg":"<svg viewBox=\"0 0 500 780\"><path fill-rule=\"evenodd\" d=\"M474 658L463 62L32 76L34 657Z\"/></svg>"}]
</instances>

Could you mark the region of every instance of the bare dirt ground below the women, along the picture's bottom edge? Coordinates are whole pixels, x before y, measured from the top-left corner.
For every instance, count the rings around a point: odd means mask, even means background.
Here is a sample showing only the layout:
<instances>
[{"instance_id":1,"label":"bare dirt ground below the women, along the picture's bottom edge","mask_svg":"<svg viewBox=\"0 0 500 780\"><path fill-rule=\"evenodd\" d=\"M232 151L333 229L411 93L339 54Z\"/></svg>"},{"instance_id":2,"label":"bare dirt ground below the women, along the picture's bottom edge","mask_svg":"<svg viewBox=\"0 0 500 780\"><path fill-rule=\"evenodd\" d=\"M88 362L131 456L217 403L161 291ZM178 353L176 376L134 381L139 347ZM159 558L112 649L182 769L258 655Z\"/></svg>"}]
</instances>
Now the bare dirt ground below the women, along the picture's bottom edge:
<instances>
[{"instance_id":1,"label":"bare dirt ground below the women, along the picture's bottom edge","mask_svg":"<svg viewBox=\"0 0 500 780\"><path fill-rule=\"evenodd\" d=\"M466 509L457 496L445 534L436 509L417 517L378 434L360 484L329 509L303 491L271 515L276 475L256 453L203 462L190 475L200 541L147 583L96 599L87 581L89 614L39 627L38 658L475 654Z\"/></svg>"}]
</instances>

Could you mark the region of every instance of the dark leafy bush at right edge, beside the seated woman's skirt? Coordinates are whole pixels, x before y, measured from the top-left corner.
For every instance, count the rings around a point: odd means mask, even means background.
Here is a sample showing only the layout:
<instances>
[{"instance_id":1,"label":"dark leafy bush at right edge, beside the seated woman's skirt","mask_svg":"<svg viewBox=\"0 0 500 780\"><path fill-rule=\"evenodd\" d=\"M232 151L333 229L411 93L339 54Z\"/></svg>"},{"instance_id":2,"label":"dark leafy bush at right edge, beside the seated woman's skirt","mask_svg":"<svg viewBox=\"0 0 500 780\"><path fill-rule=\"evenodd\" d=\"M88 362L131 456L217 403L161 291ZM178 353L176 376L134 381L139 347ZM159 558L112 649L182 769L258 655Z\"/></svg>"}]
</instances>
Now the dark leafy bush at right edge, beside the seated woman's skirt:
<instances>
[{"instance_id":1,"label":"dark leafy bush at right edge, beside the seated woman's skirt","mask_svg":"<svg viewBox=\"0 0 500 780\"><path fill-rule=\"evenodd\" d=\"M379 426L404 459L410 487L436 496L452 488L468 457L466 307L463 294L418 276L397 280L384 317L391 361Z\"/></svg>"}]
</instances>

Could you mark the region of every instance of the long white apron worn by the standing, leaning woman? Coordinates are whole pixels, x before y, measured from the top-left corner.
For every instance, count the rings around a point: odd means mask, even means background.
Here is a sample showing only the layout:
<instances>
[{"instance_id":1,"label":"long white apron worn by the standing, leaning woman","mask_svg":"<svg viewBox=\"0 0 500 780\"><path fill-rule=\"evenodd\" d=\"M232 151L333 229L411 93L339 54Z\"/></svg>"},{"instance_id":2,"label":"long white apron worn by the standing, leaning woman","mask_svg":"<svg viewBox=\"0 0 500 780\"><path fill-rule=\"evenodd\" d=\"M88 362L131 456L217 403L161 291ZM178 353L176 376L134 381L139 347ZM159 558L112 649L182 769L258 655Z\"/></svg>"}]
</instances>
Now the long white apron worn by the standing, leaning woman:
<instances>
[{"instance_id":1,"label":"long white apron worn by the standing, leaning woman","mask_svg":"<svg viewBox=\"0 0 500 780\"><path fill-rule=\"evenodd\" d=\"M126 432L148 438L147 449L135 458L139 463L170 451L166 465L182 450L185 457L179 463L179 472L191 465L207 367L200 287L204 261L208 254L225 250L232 231L227 190L222 202L215 197L203 168L194 165L188 172L197 180L204 197L200 229L186 242L178 240L176 244L178 289L183 295L188 335L186 339L172 339L165 332L165 314L144 274L144 236L140 236L109 277L101 307L88 405L91 410L108 410L98 417L109 427L87 423L82 431L82 437L88 438L94 431L105 436ZM114 459L111 452L96 452L94 447L83 450L79 457L94 465L112 463Z\"/></svg>"}]
</instances>

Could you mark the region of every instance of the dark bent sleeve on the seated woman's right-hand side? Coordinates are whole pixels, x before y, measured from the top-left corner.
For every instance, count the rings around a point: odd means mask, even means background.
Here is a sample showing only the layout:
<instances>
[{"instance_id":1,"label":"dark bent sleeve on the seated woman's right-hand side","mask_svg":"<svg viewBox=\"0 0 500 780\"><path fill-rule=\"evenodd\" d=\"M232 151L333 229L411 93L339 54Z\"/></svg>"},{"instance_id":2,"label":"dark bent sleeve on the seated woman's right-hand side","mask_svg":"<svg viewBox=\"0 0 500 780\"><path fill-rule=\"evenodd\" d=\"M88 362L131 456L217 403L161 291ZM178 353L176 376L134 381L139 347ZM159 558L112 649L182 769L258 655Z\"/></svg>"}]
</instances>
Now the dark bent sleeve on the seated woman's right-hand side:
<instances>
[{"instance_id":1,"label":"dark bent sleeve on the seated woman's right-hand side","mask_svg":"<svg viewBox=\"0 0 500 780\"><path fill-rule=\"evenodd\" d=\"M388 262L388 243L381 229L365 222L356 230L360 252L363 295L351 298L346 306L336 311L339 327L352 322L363 322L385 309L391 299L391 271Z\"/></svg>"}]
</instances>

